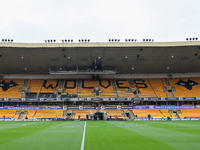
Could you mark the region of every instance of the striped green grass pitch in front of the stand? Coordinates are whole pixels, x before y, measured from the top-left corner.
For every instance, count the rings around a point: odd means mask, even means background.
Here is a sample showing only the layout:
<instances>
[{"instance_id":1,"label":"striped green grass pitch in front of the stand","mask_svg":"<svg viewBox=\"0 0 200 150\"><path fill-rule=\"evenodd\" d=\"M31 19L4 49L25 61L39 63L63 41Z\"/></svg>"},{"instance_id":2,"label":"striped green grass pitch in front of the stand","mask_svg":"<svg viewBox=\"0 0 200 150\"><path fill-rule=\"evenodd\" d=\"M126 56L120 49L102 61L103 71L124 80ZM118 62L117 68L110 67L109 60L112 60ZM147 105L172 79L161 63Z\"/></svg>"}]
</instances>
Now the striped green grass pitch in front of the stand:
<instances>
[{"instance_id":1,"label":"striped green grass pitch in front of the stand","mask_svg":"<svg viewBox=\"0 0 200 150\"><path fill-rule=\"evenodd\" d=\"M0 150L198 150L200 121L0 122ZM83 138L85 137L85 139Z\"/></svg>"}]
</instances>

